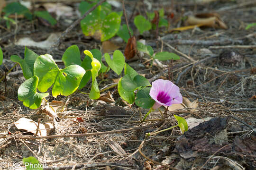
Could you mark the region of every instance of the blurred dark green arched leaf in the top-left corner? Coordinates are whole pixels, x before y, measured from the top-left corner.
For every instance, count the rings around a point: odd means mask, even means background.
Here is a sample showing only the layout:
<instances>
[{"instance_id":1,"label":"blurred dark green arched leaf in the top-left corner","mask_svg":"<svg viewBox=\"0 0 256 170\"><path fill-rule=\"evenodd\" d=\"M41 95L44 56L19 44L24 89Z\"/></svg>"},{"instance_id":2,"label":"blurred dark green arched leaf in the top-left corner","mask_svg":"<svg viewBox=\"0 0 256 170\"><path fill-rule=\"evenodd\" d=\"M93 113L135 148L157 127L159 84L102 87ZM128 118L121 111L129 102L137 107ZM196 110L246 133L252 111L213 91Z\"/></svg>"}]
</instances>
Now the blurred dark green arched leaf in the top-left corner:
<instances>
[{"instance_id":1,"label":"blurred dark green arched leaf in the top-left corner","mask_svg":"<svg viewBox=\"0 0 256 170\"><path fill-rule=\"evenodd\" d=\"M28 8L21 5L19 2L9 3L2 11L5 13L5 16L17 13L18 15L24 15L29 20L33 19L32 13Z\"/></svg>"}]
</instances>

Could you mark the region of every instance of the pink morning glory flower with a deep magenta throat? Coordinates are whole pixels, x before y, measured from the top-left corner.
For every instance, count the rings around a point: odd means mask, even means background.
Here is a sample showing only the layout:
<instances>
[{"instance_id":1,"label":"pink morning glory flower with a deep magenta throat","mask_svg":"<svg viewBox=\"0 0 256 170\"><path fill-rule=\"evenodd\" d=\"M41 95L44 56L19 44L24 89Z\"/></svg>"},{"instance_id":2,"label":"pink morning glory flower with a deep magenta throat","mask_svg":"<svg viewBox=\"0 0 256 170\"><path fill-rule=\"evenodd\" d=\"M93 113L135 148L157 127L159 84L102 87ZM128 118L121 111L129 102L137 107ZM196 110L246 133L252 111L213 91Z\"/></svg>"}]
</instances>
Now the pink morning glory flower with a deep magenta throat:
<instances>
[{"instance_id":1,"label":"pink morning glory flower with a deep magenta throat","mask_svg":"<svg viewBox=\"0 0 256 170\"><path fill-rule=\"evenodd\" d=\"M152 83L149 95L155 100L152 109L182 103L180 88L169 80L158 79Z\"/></svg>"}]
</instances>

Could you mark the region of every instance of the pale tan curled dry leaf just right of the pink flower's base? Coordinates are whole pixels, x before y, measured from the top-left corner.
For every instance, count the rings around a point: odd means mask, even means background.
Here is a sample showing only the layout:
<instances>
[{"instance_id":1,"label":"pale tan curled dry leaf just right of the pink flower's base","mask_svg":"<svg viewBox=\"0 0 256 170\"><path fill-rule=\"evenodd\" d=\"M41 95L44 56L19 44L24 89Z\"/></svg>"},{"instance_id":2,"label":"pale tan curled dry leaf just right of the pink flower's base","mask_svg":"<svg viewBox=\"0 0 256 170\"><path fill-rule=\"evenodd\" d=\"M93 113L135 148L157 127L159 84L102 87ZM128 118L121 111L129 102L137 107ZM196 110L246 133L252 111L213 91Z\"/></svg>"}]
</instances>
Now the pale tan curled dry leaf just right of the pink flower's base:
<instances>
[{"instance_id":1,"label":"pale tan curled dry leaf just right of the pink flower's base","mask_svg":"<svg viewBox=\"0 0 256 170\"><path fill-rule=\"evenodd\" d=\"M183 97L183 103L181 104L173 104L171 106L168 107L169 111L174 111L174 110L179 110L179 109L183 109L183 108L197 108L198 106L198 99L196 99L193 102L190 102L190 100L186 97ZM165 106L167 108L167 106ZM196 109L191 109L190 112L196 112Z\"/></svg>"}]
</instances>

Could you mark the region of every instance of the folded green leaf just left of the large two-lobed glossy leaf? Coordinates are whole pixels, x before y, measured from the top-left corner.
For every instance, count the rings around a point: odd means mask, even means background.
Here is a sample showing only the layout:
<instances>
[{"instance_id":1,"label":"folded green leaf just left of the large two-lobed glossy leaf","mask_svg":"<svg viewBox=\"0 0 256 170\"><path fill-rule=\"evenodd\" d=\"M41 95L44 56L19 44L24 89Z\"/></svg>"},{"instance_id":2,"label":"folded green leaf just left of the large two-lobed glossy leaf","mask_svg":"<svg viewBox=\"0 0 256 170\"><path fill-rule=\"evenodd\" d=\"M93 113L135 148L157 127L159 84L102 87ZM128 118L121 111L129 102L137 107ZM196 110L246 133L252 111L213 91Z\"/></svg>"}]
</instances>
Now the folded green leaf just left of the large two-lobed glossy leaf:
<instances>
[{"instance_id":1,"label":"folded green leaf just left of the large two-lobed glossy leaf","mask_svg":"<svg viewBox=\"0 0 256 170\"><path fill-rule=\"evenodd\" d=\"M37 59L38 55L34 52L29 50L27 47L25 47L25 52L24 52L24 59L21 59L17 55L12 55L10 59L13 62L18 62L20 65L22 71L23 71L23 76L28 79L32 76L34 76L33 70L34 70L34 63Z\"/></svg>"}]
</instances>

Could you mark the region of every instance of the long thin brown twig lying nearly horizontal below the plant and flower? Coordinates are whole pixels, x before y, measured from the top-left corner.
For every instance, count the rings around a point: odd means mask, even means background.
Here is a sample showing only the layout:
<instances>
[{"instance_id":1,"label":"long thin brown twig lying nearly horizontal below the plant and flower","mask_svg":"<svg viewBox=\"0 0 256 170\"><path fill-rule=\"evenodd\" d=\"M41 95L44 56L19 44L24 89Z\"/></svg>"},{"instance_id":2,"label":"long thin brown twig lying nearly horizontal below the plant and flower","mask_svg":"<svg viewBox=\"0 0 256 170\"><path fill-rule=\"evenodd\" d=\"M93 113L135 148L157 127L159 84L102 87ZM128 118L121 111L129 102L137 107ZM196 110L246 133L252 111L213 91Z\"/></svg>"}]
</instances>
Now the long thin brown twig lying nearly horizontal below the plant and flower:
<instances>
[{"instance_id":1,"label":"long thin brown twig lying nearly horizontal below the plant and flower","mask_svg":"<svg viewBox=\"0 0 256 170\"><path fill-rule=\"evenodd\" d=\"M83 137L83 136L97 136L97 135L105 135L105 134L114 134L114 133L126 133L129 131L134 130L141 130L148 127L154 127L162 124L162 121L159 121L152 125L147 125L143 127L132 127L128 129L121 129L121 130L113 130L113 131L106 131L106 132L96 132L96 133L86 133L86 134L68 134L68 135L52 135L52 136L19 136L21 139L30 139L30 140L36 140L36 139L52 139L52 138L59 138L59 137ZM1 137L7 137L7 136L0 136Z\"/></svg>"}]
</instances>

